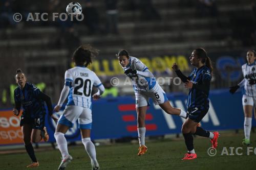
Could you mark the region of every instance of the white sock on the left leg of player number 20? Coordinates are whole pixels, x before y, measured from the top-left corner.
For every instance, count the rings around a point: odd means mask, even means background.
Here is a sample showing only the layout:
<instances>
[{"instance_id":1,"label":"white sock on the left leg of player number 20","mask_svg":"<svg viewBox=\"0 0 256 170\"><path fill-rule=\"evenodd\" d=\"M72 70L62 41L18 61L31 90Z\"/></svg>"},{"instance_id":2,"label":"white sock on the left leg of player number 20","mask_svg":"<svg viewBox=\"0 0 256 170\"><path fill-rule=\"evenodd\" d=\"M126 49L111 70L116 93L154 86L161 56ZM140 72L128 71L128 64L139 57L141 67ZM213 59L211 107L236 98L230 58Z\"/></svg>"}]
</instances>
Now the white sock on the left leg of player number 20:
<instances>
[{"instance_id":1,"label":"white sock on the left leg of player number 20","mask_svg":"<svg viewBox=\"0 0 256 170\"><path fill-rule=\"evenodd\" d=\"M54 133L54 137L56 139L56 143L58 144L58 148L61 153L62 159L69 155L68 143L64 135L65 134L61 132Z\"/></svg>"}]
</instances>

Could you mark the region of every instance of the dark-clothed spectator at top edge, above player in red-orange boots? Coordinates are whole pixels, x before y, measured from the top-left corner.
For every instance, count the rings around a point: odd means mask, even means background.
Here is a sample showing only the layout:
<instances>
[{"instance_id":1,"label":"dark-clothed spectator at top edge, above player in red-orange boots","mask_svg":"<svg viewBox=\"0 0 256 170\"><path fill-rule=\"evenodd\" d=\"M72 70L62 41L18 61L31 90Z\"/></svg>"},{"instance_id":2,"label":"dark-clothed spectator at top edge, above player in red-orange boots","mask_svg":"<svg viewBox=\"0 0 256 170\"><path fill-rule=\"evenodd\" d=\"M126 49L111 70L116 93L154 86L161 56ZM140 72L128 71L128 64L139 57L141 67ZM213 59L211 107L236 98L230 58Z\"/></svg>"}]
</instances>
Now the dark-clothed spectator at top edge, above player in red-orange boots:
<instances>
[{"instance_id":1,"label":"dark-clothed spectator at top edge, above player in red-orange boots","mask_svg":"<svg viewBox=\"0 0 256 170\"><path fill-rule=\"evenodd\" d=\"M196 6L199 16L205 16L208 14L212 17L218 16L216 0L197 0Z\"/></svg>"}]
</instances>

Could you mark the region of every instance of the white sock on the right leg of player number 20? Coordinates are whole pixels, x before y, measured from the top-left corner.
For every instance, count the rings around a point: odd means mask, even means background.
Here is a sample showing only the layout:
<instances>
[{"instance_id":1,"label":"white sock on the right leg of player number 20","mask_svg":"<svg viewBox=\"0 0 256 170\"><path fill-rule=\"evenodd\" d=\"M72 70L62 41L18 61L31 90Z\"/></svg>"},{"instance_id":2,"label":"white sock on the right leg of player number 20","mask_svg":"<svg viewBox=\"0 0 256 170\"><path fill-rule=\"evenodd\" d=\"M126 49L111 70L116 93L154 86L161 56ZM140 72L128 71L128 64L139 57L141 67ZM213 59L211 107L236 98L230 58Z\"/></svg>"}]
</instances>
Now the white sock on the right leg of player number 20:
<instances>
[{"instance_id":1,"label":"white sock on the right leg of player number 20","mask_svg":"<svg viewBox=\"0 0 256 170\"><path fill-rule=\"evenodd\" d=\"M88 153L89 157L91 158L92 164L98 164L96 159L96 150L93 142L91 141L90 137L82 138L82 143L84 145L84 148L86 149L86 152Z\"/></svg>"}]
</instances>

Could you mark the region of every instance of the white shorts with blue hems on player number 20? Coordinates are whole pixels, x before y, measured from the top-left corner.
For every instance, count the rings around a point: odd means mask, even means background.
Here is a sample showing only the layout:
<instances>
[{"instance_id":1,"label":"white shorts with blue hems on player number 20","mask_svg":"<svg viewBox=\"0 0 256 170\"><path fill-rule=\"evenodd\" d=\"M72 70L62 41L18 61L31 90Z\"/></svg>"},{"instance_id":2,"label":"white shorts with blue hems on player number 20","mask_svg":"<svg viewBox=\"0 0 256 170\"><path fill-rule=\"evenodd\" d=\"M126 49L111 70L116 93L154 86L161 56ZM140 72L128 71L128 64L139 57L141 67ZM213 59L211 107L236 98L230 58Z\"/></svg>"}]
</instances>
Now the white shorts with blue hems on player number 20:
<instances>
[{"instance_id":1,"label":"white shorts with blue hems on player number 20","mask_svg":"<svg viewBox=\"0 0 256 170\"><path fill-rule=\"evenodd\" d=\"M92 110L80 106L66 106L58 124L73 127L77 119L79 129L92 129Z\"/></svg>"}]
</instances>

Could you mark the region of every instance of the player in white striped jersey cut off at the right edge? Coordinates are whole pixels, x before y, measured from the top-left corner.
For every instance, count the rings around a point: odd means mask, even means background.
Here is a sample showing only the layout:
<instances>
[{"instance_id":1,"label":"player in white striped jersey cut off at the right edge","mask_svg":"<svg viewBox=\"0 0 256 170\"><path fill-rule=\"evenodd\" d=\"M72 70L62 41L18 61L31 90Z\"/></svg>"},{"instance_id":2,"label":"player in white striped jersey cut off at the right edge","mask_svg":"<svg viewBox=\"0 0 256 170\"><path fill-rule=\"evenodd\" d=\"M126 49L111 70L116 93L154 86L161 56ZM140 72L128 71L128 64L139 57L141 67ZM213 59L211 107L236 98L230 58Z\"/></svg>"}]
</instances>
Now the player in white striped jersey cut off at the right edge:
<instances>
[{"instance_id":1,"label":"player in white striped jersey cut off at the right edge","mask_svg":"<svg viewBox=\"0 0 256 170\"><path fill-rule=\"evenodd\" d=\"M243 109L244 109L244 135L242 143L250 144L252 108L254 107L254 118L256 117L256 53L253 50L247 52L247 62L242 65L244 79L236 86L230 87L230 92L233 94L241 86L243 88Z\"/></svg>"}]
</instances>

